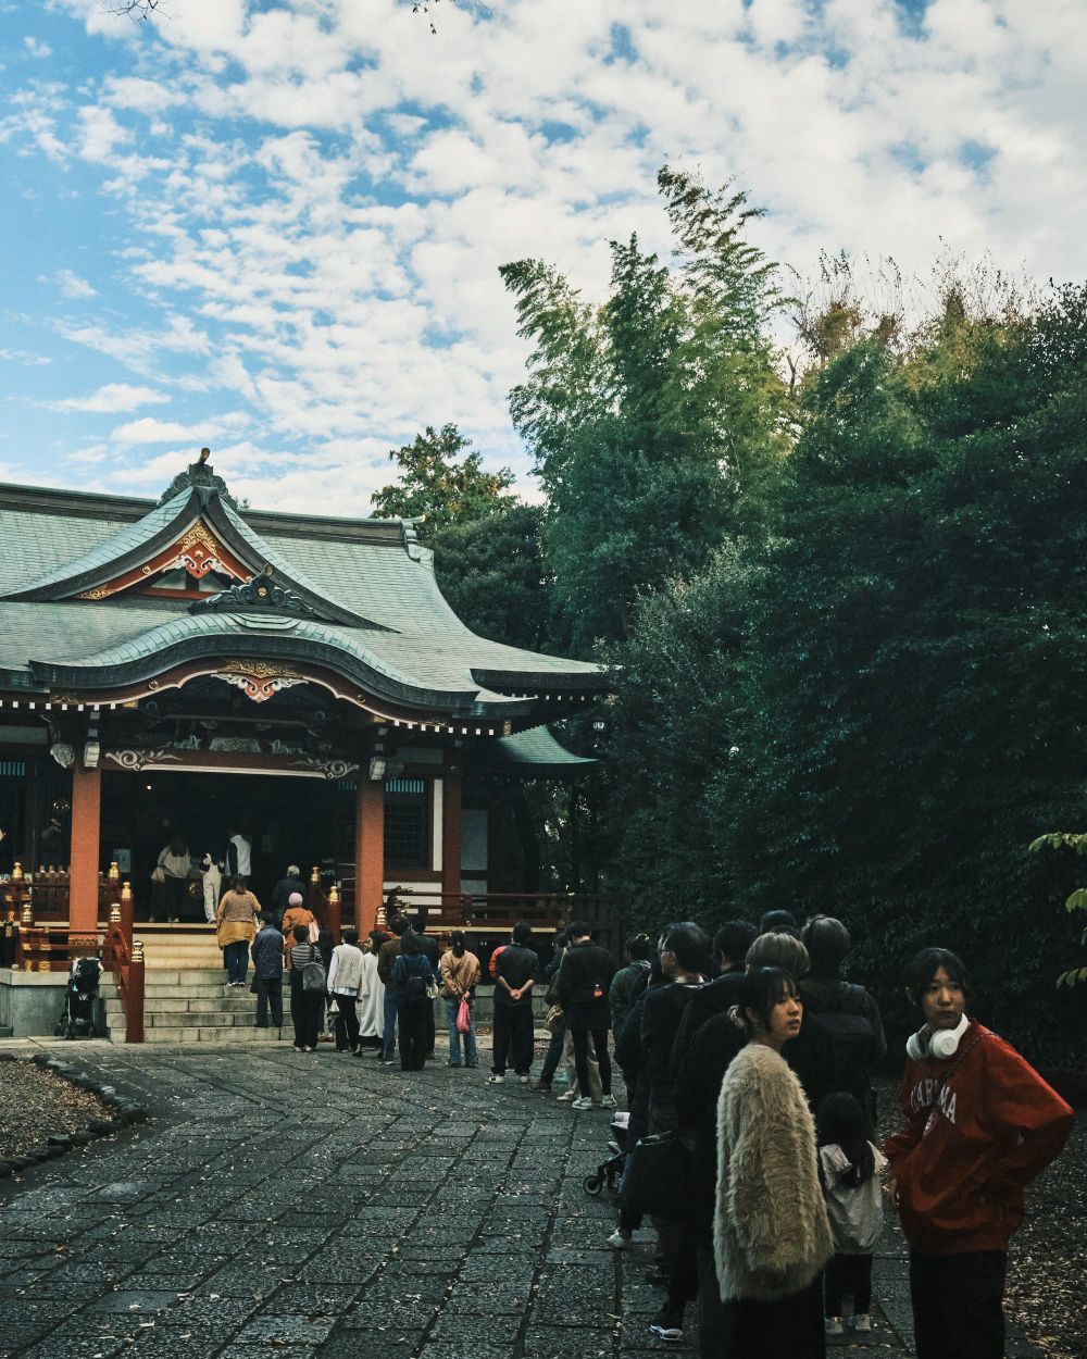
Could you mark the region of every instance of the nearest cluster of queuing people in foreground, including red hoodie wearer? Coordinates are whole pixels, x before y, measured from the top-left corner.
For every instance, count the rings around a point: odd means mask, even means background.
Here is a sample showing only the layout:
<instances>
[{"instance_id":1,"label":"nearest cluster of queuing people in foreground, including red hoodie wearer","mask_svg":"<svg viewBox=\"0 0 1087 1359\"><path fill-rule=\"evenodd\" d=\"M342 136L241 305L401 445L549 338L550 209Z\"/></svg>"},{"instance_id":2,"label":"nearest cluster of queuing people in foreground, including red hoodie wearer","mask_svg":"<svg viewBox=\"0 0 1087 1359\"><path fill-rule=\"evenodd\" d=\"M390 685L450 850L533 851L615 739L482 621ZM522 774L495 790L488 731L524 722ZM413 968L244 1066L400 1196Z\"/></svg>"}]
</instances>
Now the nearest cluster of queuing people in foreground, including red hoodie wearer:
<instances>
[{"instance_id":1,"label":"nearest cluster of queuing people in foreground, including red hoodie wearer","mask_svg":"<svg viewBox=\"0 0 1087 1359\"><path fill-rule=\"evenodd\" d=\"M620 988L628 1147L675 1129L689 1158L689 1211L654 1220L649 1279L666 1301L652 1332L681 1340L696 1301L707 1359L822 1359L827 1336L871 1332L889 1200L910 1246L919 1359L1000 1359L1008 1239L1072 1110L967 1018L962 962L927 949L908 969L923 1025L904 1128L880 1148L871 1074L886 1037L875 999L841 976L848 931L774 916L761 932L730 921L712 945L697 924L671 924ZM640 1222L624 1196L609 1243L629 1249Z\"/></svg>"}]
</instances>

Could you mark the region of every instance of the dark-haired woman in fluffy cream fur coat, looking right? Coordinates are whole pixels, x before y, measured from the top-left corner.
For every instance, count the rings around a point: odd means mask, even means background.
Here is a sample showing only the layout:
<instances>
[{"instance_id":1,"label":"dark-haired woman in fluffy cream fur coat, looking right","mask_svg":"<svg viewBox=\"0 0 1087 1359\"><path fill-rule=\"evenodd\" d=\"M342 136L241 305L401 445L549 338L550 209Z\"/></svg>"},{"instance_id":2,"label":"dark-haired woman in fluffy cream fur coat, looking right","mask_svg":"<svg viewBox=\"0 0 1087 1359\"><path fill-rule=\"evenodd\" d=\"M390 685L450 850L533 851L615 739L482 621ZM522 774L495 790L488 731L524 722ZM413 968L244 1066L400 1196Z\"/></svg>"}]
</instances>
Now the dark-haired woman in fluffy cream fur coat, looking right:
<instances>
[{"instance_id":1,"label":"dark-haired woman in fluffy cream fur coat, looking right","mask_svg":"<svg viewBox=\"0 0 1087 1359\"><path fill-rule=\"evenodd\" d=\"M803 1006L780 968L747 973L747 1033L717 1102L713 1253L728 1359L823 1359L822 1271L834 1253L800 1082L781 1057Z\"/></svg>"}]
</instances>

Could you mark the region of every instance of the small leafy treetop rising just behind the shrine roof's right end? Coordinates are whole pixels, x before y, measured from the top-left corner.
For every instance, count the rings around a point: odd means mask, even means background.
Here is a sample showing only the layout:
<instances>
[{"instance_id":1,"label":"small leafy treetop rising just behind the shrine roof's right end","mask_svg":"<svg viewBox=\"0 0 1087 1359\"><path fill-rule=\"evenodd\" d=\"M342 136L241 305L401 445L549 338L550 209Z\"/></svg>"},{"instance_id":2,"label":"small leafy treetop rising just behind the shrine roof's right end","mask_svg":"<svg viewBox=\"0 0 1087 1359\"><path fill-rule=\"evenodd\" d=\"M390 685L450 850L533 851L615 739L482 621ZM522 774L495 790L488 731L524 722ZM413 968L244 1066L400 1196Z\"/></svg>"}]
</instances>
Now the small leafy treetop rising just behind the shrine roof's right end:
<instances>
[{"instance_id":1,"label":"small leafy treetop rising just behind the shrine roof's right end","mask_svg":"<svg viewBox=\"0 0 1087 1359\"><path fill-rule=\"evenodd\" d=\"M374 492L374 514L390 519L421 518L418 537L429 544L450 525L471 523L510 506L516 499L505 493L514 473L508 467L486 472L481 455L469 453L470 447L471 440L457 425L444 424L438 432L427 425L412 443L393 448L389 457L401 477Z\"/></svg>"}]
</instances>

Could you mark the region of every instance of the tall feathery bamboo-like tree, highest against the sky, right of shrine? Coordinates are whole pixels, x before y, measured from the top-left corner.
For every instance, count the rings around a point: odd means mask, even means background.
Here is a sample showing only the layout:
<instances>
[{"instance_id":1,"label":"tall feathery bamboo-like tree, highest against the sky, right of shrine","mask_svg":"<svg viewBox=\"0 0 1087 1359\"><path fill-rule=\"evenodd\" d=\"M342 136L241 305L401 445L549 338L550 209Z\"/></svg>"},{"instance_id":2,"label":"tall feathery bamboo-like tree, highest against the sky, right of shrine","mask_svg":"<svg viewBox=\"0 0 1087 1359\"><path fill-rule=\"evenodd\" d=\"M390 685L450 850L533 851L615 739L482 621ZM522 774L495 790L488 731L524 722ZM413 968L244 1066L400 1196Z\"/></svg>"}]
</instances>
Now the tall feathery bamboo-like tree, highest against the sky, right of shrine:
<instances>
[{"instance_id":1,"label":"tall feathery bamboo-like tree, highest against the sky, right of shrine","mask_svg":"<svg viewBox=\"0 0 1087 1359\"><path fill-rule=\"evenodd\" d=\"M758 212L667 167L658 183L674 268L637 236L611 242L599 307L542 261L500 270L534 345L511 413L548 495L556 606L580 654L629 635L640 591L702 567L788 446L769 340L784 299L745 239Z\"/></svg>"}]
</instances>

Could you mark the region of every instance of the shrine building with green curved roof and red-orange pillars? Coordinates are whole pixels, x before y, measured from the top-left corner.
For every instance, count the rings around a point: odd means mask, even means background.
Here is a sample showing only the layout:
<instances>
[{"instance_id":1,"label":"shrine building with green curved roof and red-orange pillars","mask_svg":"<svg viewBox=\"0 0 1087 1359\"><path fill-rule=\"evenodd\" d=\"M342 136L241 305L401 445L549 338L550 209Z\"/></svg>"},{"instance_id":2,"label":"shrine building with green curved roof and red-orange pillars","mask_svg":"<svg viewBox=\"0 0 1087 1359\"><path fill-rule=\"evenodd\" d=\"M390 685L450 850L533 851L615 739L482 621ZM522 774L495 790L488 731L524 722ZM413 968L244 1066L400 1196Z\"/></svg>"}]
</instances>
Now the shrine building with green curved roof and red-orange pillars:
<instances>
[{"instance_id":1,"label":"shrine building with green curved roof and red-orange pillars","mask_svg":"<svg viewBox=\"0 0 1087 1359\"><path fill-rule=\"evenodd\" d=\"M319 866L361 930L535 892L520 780L591 764L548 723L599 667L470 632L410 520L242 508L207 458L158 504L0 487L0 871L73 951L174 836L246 836L258 897Z\"/></svg>"}]
</instances>

